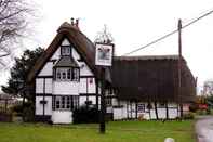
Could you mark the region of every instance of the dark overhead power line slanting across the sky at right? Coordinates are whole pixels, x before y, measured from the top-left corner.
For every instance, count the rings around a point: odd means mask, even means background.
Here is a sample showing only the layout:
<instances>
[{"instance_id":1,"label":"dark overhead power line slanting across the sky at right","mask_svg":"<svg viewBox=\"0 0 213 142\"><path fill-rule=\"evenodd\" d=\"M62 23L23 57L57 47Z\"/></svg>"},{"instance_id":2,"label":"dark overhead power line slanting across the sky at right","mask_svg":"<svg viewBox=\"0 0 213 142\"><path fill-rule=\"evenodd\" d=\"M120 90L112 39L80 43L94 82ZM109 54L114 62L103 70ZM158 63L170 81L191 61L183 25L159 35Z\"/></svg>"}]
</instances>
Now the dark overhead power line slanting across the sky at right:
<instances>
[{"instance_id":1,"label":"dark overhead power line slanting across the sky at right","mask_svg":"<svg viewBox=\"0 0 213 142\"><path fill-rule=\"evenodd\" d=\"M213 13L213 10L211 10L210 12L208 12L208 13L205 13L205 14L199 16L199 17L196 18L196 20L192 20L192 21L189 22L188 24L184 25L184 26L182 27L182 29L184 29L184 28L190 26L191 24L198 22L199 20L201 20L201 18L203 18L203 17L205 17L205 16L212 14L212 13ZM128 52L128 53L125 53L125 54L123 54L123 55L121 55L121 56L125 56L125 55L132 54L132 53L134 53L134 52L137 52L137 51L139 51L139 50L142 50L142 49L145 49L145 48L147 48L147 47L149 47L149 46L151 46L151 44L154 44L154 43L157 43L158 41L161 41L161 40L168 38L169 36L172 36L173 34L175 34L175 33L177 33L177 31L178 31L178 29L173 30L173 31L171 31L171 33L169 33L169 34L167 34L167 35L164 35L164 36L162 36L162 37L160 37L160 38L158 38L158 39L156 39L156 40L154 40L154 41L151 41L151 42L149 42L149 43L147 43L147 44L145 44L145 46L138 48L138 49L135 49L135 50L133 50L133 51L131 51L131 52Z\"/></svg>"}]
</instances>

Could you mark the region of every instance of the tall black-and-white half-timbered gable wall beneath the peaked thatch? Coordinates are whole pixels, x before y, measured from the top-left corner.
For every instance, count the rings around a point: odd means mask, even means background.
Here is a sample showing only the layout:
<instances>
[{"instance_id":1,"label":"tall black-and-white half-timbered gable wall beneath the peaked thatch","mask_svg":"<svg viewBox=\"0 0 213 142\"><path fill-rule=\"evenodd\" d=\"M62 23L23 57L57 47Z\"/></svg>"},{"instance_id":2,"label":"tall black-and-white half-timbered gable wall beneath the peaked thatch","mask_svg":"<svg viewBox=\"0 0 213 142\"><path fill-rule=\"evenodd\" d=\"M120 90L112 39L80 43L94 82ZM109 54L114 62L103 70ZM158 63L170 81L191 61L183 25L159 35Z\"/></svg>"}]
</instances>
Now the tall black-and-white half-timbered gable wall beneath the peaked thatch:
<instances>
[{"instance_id":1,"label":"tall black-and-white half-timbered gable wall beneath the peaked thatch","mask_svg":"<svg viewBox=\"0 0 213 142\"><path fill-rule=\"evenodd\" d=\"M71 44L67 39L64 39L62 46ZM61 59L61 47L58 47L36 77L36 115L52 115L51 119L56 124L71 122L71 112L52 111L51 95L79 95L79 105L85 104L85 101L96 104L96 85L93 73L74 47L71 48L71 56L80 68L79 81L58 81L53 79L54 64ZM41 103L43 101L46 101L46 104L43 105Z\"/></svg>"}]
</instances>

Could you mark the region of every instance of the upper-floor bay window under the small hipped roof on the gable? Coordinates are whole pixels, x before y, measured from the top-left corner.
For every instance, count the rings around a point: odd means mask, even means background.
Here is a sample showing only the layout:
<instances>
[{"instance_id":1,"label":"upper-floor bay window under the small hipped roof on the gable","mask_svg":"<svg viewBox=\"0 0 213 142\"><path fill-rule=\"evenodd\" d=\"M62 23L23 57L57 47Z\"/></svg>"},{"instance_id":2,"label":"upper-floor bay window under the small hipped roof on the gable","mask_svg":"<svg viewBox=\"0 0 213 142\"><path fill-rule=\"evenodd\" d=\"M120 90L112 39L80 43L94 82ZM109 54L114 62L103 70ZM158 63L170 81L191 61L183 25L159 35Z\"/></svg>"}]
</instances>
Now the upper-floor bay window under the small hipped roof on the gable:
<instances>
[{"instance_id":1,"label":"upper-floor bay window under the small hipped roof on the gable","mask_svg":"<svg viewBox=\"0 0 213 142\"><path fill-rule=\"evenodd\" d=\"M59 81L79 81L79 68L56 68L56 80Z\"/></svg>"}]
</instances>

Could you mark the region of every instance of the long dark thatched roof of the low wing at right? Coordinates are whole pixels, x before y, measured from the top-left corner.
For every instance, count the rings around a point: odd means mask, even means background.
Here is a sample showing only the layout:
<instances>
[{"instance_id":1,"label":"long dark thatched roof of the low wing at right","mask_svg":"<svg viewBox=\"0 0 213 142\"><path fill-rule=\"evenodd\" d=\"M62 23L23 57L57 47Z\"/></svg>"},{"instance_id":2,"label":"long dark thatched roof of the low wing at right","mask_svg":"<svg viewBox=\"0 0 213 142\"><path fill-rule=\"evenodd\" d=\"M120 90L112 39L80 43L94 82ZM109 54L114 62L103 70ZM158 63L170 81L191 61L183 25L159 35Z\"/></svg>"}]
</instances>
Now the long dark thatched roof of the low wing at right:
<instances>
[{"instance_id":1,"label":"long dark thatched roof of the low wing at right","mask_svg":"<svg viewBox=\"0 0 213 142\"><path fill-rule=\"evenodd\" d=\"M120 100L194 101L196 82L184 59L178 98L177 67L177 55L115 57L112 86Z\"/></svg>"}]
</instances>

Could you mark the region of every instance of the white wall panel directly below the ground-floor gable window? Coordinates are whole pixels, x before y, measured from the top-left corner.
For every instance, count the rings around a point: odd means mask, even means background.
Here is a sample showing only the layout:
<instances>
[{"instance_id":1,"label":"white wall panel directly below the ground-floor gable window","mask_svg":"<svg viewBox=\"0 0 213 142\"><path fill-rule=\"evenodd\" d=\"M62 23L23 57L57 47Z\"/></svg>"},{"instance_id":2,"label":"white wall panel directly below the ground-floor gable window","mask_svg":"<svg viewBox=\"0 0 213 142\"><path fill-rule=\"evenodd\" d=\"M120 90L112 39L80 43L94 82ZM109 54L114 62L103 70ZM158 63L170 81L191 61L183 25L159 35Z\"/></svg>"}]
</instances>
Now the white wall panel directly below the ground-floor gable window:
<instances>
[{"instance_id":1,"label":"white wall panel directly below the ground-floor gable window","mask_svg":"<svg viewBox=\"0 0 213 142\"><path fill-rule=\"evenodd\" d=\"M53 124L71 124L72 112L69 111L53 111L52 113Z\"/></svg>"}]
</instances>

